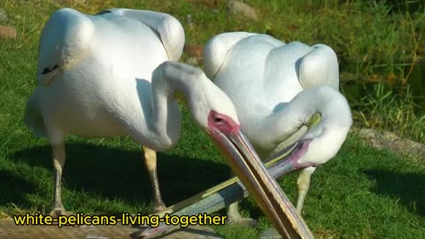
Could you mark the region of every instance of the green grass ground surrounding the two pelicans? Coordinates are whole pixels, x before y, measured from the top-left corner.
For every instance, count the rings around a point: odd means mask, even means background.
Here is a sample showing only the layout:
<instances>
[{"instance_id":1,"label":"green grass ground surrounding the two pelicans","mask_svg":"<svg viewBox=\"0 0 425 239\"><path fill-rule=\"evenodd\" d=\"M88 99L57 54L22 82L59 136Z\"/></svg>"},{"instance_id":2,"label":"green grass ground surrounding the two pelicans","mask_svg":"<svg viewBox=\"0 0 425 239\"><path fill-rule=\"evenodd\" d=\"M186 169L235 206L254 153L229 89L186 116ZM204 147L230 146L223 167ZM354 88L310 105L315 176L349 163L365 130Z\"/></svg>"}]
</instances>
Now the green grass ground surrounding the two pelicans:
<instances>
[{"instance_id":1,"label":"green grass ground surrounding the two pelicans","mask_svg":"<svg viewBox=\"0 0 425 239\"><path fill-rule=\"evenodd\" d=\"M203 45L213 35L236 30L268 33L285 41L324 42L336 49L343 75L361 82L375 79L402 85L407 75L404 66L423 51L423 10L407 13L397 5L366 1L264 4L252 0L249 3L260 17L254 22L228 17L223 1L213 5L218 12L205 4L209 1L201 0L89 2L72 6L89 13L112 6L168 12L182 20L189 43ZM15 213L43 212L51 200L49 143L31 135L22 115L27 96L35 88L40 31L58 6L45 1L3 0L0 8L9 14L6 24L18 31L16 40L0 39L0 217L6 218ZM192 15L191 26L185 22L187 14ZM367 86L366 93L350 94L348 86L344 83L343 89L351 96L358 124L390 128L424 142L423 117L406 89L401 90L406 94L400 94L388 85L378 85L375 89ZM177 147L158 154L166 204L224 181L229 174L225 161L194 127L186 111L183 124ZM151 188L140 145L128 138L86 140L70 136L66 146L63 199L68 210L151 212ZM424 180L423 164L374 150L350 135L337 157L314 174L304 217L317 237L425 238ZM291 200L295 199L295 182L295 173L280 181ZM259 227L215 227L220 235L256 238L269 226L251 199L243 200L241 206L244 215L259 218Z\"/></svg>"}]
</instances>

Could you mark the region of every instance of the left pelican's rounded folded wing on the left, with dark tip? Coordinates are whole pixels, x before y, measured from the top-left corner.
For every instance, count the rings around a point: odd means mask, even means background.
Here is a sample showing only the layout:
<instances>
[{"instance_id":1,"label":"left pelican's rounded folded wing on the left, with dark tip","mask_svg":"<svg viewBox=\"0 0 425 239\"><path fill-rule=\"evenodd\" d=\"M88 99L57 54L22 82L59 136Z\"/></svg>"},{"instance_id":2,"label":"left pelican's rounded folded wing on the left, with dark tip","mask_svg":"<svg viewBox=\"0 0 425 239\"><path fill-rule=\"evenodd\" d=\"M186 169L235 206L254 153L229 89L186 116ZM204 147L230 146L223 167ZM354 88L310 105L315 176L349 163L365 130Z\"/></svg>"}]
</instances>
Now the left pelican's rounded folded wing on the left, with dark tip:
<instances>
[{"instance_id":1,"label":"left pelican's rounded folded wing on the left, with dark tip","mask_svg":"<svg viewBox=\"0 0 425 239\"><path fill-rule=\"evenodd\" d=\"M42 29L37 81L49 84L62 69L71 66L88 50L94 25L85 14L64 8L53 13Z\"/></svg>"}]
</instances>

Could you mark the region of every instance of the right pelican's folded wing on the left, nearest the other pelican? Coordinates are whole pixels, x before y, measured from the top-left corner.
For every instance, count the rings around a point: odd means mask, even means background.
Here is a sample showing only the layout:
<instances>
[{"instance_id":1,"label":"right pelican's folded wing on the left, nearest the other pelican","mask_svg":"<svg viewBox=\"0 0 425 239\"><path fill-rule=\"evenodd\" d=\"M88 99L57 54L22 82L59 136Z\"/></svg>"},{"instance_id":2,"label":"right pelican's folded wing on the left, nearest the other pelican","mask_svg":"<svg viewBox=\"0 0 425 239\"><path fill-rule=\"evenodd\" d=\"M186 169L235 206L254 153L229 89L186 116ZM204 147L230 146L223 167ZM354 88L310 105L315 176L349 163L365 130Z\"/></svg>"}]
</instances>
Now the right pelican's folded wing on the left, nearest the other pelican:
<instances>
[{"instance_id":1,"label":"right pelican's folded wing on the left, nearest the other pelican","mask_svg":"<svg viewBox=\"0 0 425 239\"><path fill-rule=\"evenodd\" d=\"M211 80L214 80L215 75L219 73L224 59L230 50L237 42L240 42L246 37L259 35L246 32L233 32L215 35L206 43L203 57L205 65L205 74Z\"/></svg>"}]
</instances>

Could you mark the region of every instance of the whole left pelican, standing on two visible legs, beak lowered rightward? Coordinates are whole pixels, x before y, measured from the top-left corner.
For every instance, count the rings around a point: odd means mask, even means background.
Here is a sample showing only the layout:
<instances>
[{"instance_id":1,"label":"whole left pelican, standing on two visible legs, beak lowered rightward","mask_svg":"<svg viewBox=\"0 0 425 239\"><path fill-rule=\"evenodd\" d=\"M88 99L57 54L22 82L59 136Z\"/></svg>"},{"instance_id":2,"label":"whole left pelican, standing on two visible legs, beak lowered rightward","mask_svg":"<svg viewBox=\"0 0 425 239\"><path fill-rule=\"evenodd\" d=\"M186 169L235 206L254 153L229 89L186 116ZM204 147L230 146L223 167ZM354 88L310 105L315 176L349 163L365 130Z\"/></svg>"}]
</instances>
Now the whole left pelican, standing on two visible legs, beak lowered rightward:
<instances>
[{"instance_id":1,"label":"whole left pelican, standing on two visible legs, beak lowered rightward","mask_svg":"<svg viewBox=\"0 0 425 239\"><path fill-rule=\"evenodd\" d=\"M50 213L67 213L60 194L66 135L131 135L143 145L155 205L162 207L156 151L170 149L180 138L176 96L182 96L281 235L308 237L305 222L243 136L228 96L201 70L173 62L181 57L183 42L179 21L158 12L112 9L92 16L62 9L50 17L42 30L38 84L24 116L52 147Z\"/></svg>"}]
</instances>

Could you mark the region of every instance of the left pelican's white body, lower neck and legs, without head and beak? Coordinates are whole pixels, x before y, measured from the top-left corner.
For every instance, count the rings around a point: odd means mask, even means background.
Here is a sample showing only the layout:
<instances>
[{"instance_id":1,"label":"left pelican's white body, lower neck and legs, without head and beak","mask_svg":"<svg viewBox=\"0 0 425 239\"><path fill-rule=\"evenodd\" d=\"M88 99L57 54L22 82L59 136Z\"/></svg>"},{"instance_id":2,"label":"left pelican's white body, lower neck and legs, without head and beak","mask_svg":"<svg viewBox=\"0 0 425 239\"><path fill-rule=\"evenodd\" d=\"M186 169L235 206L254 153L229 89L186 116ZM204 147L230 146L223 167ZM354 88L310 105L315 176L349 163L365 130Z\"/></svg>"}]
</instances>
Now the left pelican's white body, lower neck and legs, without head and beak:
<instances>
[{"instance_id":1,"label":"left pelican's white body, lower neck and legs, without head and beak","mask_svg":"<svg viewBox=\"0 0 425 239\"><path fill-rule=\"evenodd\" d=\"M52 146L52 212L66 213L60 197L66 135L131 135L143 145L155 208L165 206L155 151L177 142L181 118L171 101L158 105L168 116L151 109L151 73L164 61L177 61L183 45L181 23L164 13L111 9L86 15L61 9L52 14L42 29L38 84L24 117Z\"/></svg>"}]
</instances>

